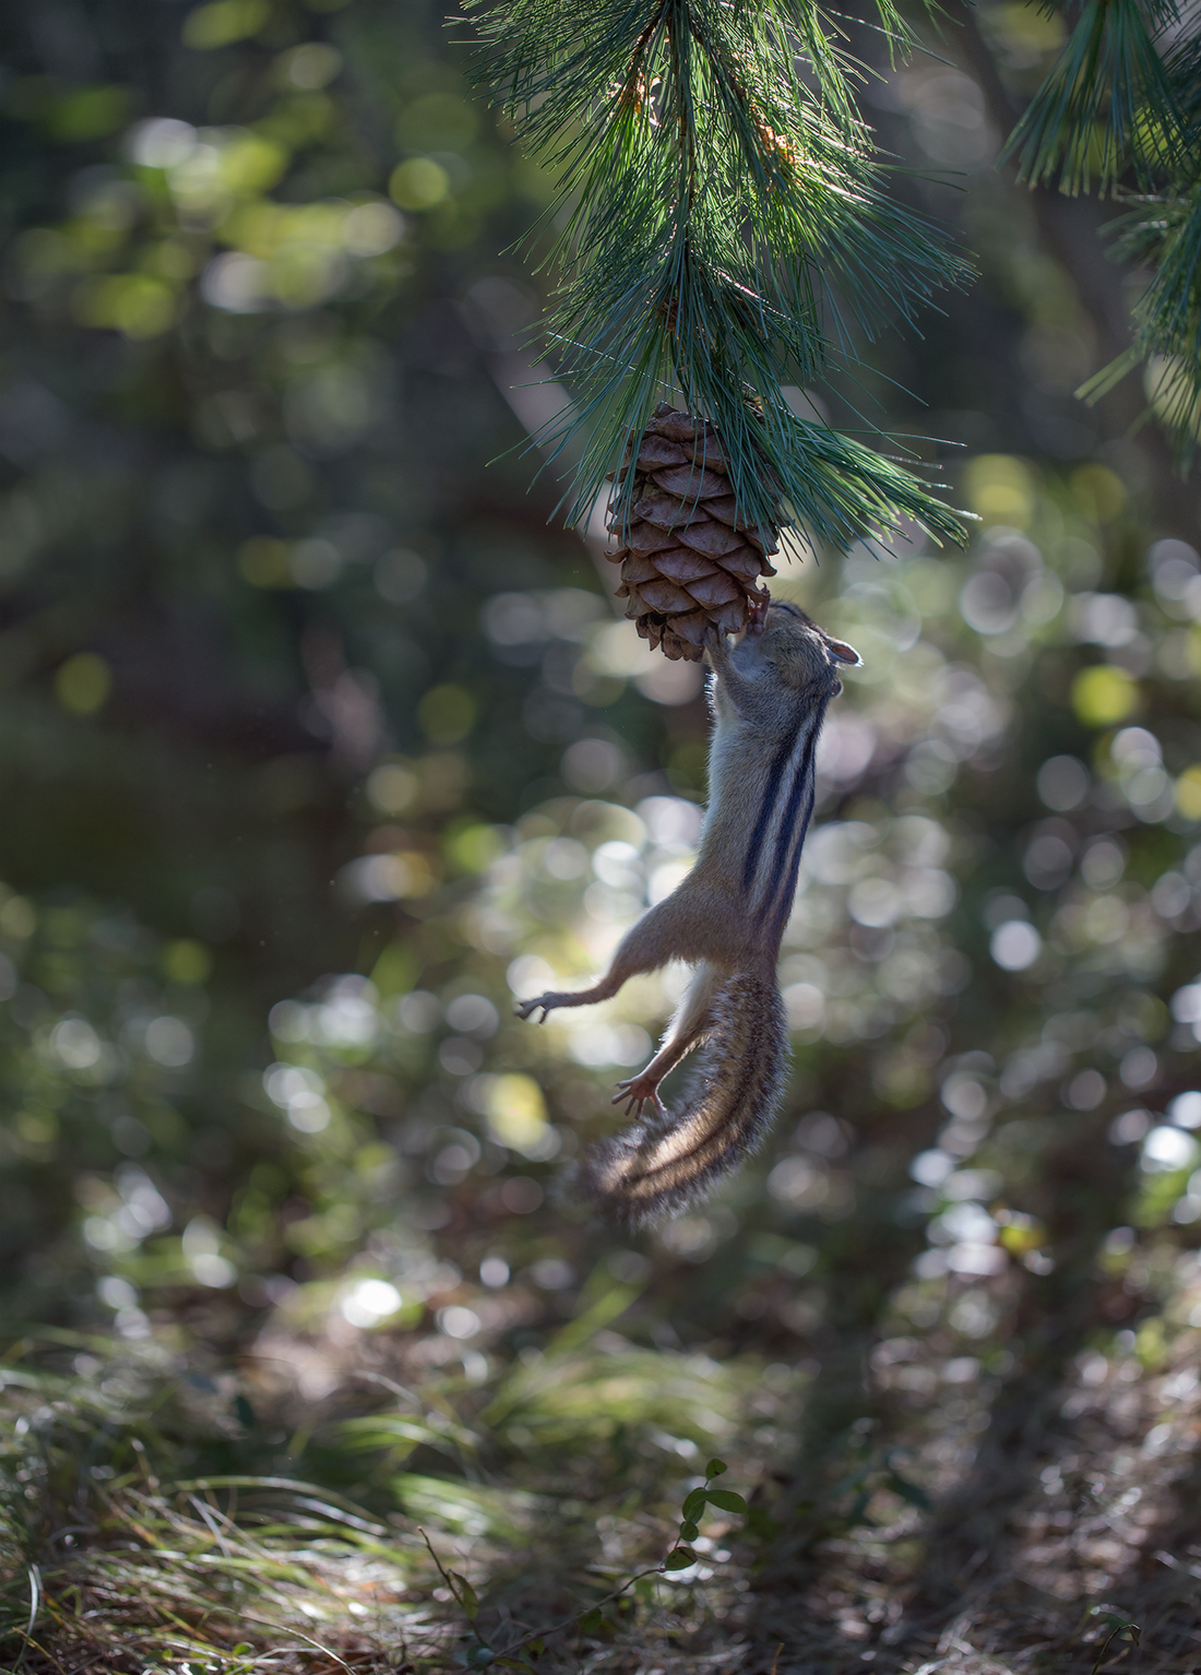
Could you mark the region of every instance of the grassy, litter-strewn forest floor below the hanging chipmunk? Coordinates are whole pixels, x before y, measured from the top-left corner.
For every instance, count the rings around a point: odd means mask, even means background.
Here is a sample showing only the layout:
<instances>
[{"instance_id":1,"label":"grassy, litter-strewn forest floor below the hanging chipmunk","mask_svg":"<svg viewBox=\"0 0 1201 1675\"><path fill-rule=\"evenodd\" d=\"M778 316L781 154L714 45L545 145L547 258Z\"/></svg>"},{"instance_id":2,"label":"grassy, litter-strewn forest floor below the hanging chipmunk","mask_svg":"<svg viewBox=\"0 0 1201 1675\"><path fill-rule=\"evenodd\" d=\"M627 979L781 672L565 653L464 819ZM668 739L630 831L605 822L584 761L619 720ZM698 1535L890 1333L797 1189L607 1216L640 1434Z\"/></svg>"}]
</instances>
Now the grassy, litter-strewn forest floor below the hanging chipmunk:
<instances>
[{"instance_id":1,"label":"grassy, litter-strewn forest floor below the hanging chipmunk","mask_svg":"<svg viewBox=\"0 0 1201 1675\"><path fill-rule=\"evenodd\" d=\"M1194 1306L1188 1285L1178 1301ZM1188 1320L1111 1357L1065 1335L1045 1365L993 1377L936 1363L928 1340L878 1342L888 1417L841 1435L822 1414L863 1380L853 1342L817 1375L568 1328L499 1379L432 1365L432 1342L275 1330L238 1375L154 1338L94 1342L69 1368L70 1343L18 1345L3 1367L3 1667L1201 1667ZM720 1482L750 1511L698 1514L697 1563L665 1574L678 1497L700 1482L678 1476L695 1447L653 1424L675 1397L677 1430L722 1437ZM436 1474L392 1476L397 1462ZM385 1482L402 1513L380 1513Z\"/></svg>"}]
</instances>

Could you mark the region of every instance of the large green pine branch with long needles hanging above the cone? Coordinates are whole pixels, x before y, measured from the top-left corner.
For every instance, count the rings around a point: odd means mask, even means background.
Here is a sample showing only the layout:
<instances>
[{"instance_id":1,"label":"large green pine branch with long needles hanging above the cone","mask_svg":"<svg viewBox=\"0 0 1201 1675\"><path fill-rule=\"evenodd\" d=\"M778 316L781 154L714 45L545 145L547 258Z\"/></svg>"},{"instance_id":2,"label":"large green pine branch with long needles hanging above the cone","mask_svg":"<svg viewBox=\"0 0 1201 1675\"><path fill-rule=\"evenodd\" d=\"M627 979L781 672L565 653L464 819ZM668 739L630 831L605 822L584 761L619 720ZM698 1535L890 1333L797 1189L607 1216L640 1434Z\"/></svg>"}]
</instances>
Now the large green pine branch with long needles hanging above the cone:
<instances>
[{"instance_id":1,"label":"large green pine branch with long needles hanging above the cone","mask_svg":"<svg viewBox=\"0 0 1201 1675\"><path fill-rule=\"evenodd\" d=\"M908 516L960 539L916 477L784 399L968 271L888 196L829 17L804 0L479 3L481 74L558 174L534 236L553 234L548 337L586 434L570 521L680 392L752 523L784 511L846 544ZM878 13L906 49L891 0Z\"/></svg>"}]
</instances>

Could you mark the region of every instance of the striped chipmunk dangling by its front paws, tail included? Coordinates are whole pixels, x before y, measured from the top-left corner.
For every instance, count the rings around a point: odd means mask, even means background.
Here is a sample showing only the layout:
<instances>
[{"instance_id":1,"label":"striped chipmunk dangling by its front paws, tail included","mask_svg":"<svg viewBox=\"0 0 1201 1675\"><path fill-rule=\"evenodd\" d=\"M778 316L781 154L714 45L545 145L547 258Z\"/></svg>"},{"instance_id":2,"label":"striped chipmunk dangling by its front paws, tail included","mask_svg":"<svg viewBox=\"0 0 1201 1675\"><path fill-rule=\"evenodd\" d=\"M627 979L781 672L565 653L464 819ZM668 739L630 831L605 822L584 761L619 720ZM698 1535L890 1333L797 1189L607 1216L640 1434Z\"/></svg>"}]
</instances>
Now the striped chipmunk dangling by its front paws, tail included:
<instances>
[{"instance_id":1,"label":"striped chipmunk dangling by its front paws, tail included","mask_svg":"<svg viewBox=\"0 0 1201 1675\"><path fill-rule=\"evenodd\" d=\"M714 628L710 804L697 864L621 938L605 977L580 993L546 993L518 1017L610 1000L626 978L668 960L697 968L660 1050L618 1084L613 1104L637 1121L596 1147L578 1184L615 1221L680 1214L764 1139L784 1090L787 1023L776 961L792 911L814 806L814 752L839 663L859 655L796 605L759 611L730 647ZM705 1045L685 1109L658 1084ZM643 1106L652 1116L643 1121Z\"/></svg>"}]
</instances>

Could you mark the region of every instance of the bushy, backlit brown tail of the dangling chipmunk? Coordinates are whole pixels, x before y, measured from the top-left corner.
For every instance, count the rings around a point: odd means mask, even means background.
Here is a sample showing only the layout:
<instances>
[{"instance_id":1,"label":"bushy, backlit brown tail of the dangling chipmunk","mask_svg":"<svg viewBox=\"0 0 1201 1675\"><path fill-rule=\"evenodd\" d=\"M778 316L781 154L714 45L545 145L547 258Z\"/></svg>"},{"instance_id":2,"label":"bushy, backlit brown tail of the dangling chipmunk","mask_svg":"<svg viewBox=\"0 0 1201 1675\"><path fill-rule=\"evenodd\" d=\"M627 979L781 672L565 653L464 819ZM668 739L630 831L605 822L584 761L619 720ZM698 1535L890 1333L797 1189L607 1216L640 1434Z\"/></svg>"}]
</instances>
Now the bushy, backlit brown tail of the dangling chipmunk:
<instances>
[{"instance_id":1,"label":"bushy, backlit brown tail of the dangling chipmunk","mask_svg":"<svg viewBox=\"0 0 1201 1675\"><path fill-rule=\"evenodd\" d=\"M714 993L712 1030L685 1109L605 1141L581 1161L578 1186L625 1226L680 1214L762 1144L786 1065L776 978L747 972L725 978Z\"/></svg>"}]
</instances>

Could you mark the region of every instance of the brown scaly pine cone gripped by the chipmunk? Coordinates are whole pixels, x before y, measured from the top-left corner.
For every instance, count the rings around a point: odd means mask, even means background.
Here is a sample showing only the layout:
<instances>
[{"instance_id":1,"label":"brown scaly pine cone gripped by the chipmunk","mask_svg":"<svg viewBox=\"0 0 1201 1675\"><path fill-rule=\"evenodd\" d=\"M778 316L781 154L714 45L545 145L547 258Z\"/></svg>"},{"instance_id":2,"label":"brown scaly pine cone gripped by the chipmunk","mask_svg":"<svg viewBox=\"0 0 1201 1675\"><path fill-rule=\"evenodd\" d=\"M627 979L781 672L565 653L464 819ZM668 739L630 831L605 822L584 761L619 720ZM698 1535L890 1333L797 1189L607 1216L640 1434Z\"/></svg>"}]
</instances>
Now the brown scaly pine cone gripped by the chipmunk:
<instances>
[{"instance_id":1,"label":"brown scaly pine cone gripped by the chipmunk","mask_svg":"<svg viewBox=\"0 0 1201 1675\"><path fill-rule=\"evenodd\" d=\"M631 452L631 449L628 449ZM642 432L625 546L605 556L621 564L618 598L626 616L670 658L698 662L710 623L747 626L752 601L765 603L759 576L774 576L774 529L749 528L734 504L722 444L712 424L667 402ZM610 531L620 533L610 501Z\"/></svg>"}]
</instances>

